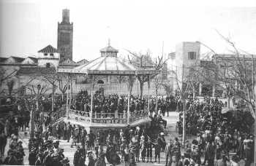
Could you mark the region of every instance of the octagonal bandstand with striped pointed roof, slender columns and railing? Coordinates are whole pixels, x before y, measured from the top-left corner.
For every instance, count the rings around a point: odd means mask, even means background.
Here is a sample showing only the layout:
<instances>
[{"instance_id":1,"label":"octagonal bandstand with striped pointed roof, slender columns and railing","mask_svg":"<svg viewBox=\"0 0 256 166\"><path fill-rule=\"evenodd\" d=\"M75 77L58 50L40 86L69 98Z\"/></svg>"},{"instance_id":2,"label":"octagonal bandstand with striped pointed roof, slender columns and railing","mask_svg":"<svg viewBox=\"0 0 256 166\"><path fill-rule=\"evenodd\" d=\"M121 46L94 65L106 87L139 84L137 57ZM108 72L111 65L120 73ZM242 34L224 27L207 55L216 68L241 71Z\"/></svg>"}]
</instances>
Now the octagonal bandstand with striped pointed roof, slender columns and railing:
<instances>
[{"instance_id":1,"label":"octagonal bandstand with striped pointed roof, slender columns and railing","mask_svg":"<svg viewBox=\"0 0 256 166\"><path fill-rule=\"evenodd\" d=\"M65 74L69 76L69 84L71 80L76 76L85 76L91 82L91 104L90 111L86 113L84 111L73 110L69 108L69 100L71 98L70 90L67 90L67 112L64 117L64 122L70 122L72 125L80 125L86 128L89 132L96 133L97 130L108 130L113 128L124 128L128 125L131 127L148 125L151 122L149 118L149 78L153 75L159 74L159 71L155 70L143 70L138 68L128 60L117 57L118 50L108 44L108 47L100 50L101 57L91 60L89 63L83 64L76 68L59 68L59 74ZM130 95L132 84L135 77L138 75L148 76L148 106L144 110L139 110L135 112L129 111ZM99 76L122 76L127 82L127 111L123 113L94 113L93 112L93 96L94 87L97 83L97 78ZM115 93L115 90L113 90Z\"/></svg>"}]
</instances>

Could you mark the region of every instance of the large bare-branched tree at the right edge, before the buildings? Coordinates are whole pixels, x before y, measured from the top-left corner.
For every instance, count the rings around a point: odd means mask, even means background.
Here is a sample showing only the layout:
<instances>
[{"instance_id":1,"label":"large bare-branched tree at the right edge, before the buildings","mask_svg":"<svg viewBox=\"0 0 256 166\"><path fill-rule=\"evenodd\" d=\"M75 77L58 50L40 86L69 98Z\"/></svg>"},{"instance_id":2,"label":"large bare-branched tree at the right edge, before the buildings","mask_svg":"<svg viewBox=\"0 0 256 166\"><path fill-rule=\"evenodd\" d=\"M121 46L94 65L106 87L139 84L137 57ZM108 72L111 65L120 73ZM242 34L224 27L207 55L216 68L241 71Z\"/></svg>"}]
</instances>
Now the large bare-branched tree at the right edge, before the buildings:
<instances>
[{"instance_id":1,"label":"large bare-branched tree at the right edge, before the buildings","mask_svg":"<svg viewBox=\"0 0 256 166\"><path fill-rule=\"evenodd\" d=\"M217 31L217 33L219 33ZM230 107L230 98L241 98L246 102L252 117L255 119L255 61L256 56L239 50L236 44L219 33L219 36L230 45L232 53L228 57L214 55L211 66L201 66L200 76L223 91ZM213 76L209 76L211 73Z\"/></svg>"}]
</instances>

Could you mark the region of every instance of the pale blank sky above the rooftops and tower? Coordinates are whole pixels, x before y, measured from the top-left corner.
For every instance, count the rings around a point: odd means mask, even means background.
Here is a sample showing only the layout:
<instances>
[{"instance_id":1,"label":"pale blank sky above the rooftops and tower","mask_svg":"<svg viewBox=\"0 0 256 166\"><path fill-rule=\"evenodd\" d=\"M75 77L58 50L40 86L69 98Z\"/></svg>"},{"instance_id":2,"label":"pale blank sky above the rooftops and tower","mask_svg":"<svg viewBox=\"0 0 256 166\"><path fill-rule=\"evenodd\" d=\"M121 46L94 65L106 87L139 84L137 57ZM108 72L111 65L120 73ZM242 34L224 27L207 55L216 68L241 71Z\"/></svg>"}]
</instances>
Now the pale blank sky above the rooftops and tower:
<instances>
[{"instance_id":1,"label":"pale blank sky above the rooftops and tower","mask_svg":"<svg viewBox=\"0 0 256 166\"><path fill-rule=\"evenodd\" d=\"M57 23L70 9L74 23L73 59L92 60L111 45L127 55L151 50L153 56L175 51L178 42L200 41L218 53L229 36L236 46L256 53L255 0L214 1L32 1L0 0L0 55L37 55L48 44L57 46ZM202 48L202 52L207 52Z\"/></svg>"}]
</instances>

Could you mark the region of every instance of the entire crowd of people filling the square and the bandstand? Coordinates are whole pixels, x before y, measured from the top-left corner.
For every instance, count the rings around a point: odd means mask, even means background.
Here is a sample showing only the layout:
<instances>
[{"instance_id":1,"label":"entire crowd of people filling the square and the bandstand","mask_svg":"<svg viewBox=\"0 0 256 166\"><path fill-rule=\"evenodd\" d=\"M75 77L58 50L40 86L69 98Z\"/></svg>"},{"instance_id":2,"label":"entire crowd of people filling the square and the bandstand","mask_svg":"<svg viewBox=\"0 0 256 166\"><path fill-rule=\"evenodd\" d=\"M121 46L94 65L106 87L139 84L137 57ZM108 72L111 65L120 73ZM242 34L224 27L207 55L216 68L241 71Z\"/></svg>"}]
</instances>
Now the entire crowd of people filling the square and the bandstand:
<instances>
[{"instance_id":1,"label":"entire crowd of people filling the square and the bandstand","mask_svg":"<svg viewBox=\"0 0 256 166\"><path fill-rule=\"evenodd\" d=\"M37 133L29 139L29 165L69 165L69 159L64 157L64 149L59 147L59 140L70 142L70 148L76 147L73 165L89 166L106 165L105 159L112 165L124 162L125 165L136 165L139 162L160 162L160 153L165 153L165 165L225 165L227 162L238 164L244 159L250 165L254 159L254 137L250 127L252 118L246 113L222 114L226 103L221 100L205 98L203 102L197 98L189 98L186 106L186 116L182 114L183 104L178 97L151 98L149 101L149 116L151 126L126 127L116 130L100 130L97 133L88 133L84 127L72 125L69 122L56 123L59 111L66 106L61 97L55 98L54 111L51 111L50 96L42 97L39 111L34 115ZM70 108L89 112L91 97L87 91L81 91L75 98L69 100ZM93 98L93 112L95 113L122 113L127 111L127 96L116 94L105 96L97 91ZM30 103L29 103L30 102ZM130 111L136 112L148 109L148 98L131 97ZM18 141L20 130L25 133L29 127L31 108L35 108L33 100L26 98L7 100L6 105L11 106L12 113L0 125L1 157L4 149L9 150L7 157L1 160L6 165L23 165L24 150L22 141ZM181 139L168 138L159 133L158 124L166 127L163 116L168 116L170 111L179 112L177 122L178 133L182 134L183 118L186 119L186 133L191 135L192 141L185 141L181 146ZM45 114L42 114L46 112ZM15 115L15 116L13 116ZM46 126L43 130L42 124ZM160 129L163 131L163 128ZM57 141L54 141L57 140ZM184 151L181 152L181 151ZM230 156L230 153L234 155ZM88 159L88 161L86 161Z\"/></svg>"}]
</instances>

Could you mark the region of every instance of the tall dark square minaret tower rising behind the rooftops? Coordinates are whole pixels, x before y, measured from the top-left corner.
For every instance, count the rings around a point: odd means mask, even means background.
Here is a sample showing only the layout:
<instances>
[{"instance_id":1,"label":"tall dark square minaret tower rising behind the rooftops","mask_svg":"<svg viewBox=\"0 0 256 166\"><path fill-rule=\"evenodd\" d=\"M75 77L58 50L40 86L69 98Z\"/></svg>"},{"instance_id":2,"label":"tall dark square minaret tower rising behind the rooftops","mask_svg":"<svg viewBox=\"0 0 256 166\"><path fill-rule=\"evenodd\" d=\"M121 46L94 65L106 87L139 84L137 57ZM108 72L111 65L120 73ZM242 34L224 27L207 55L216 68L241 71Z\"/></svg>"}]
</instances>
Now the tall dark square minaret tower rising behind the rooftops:
<instances>
[{"instance_id":1,"label":"tall dark square minaret tower rising behind the rooftops","mask_svg":"<svg viewBox=\"0 0 256 166\"><path fill-rule=\"evenodd\" d=\"M69 9L62 10L62 21L58 23L57 49L60 53L60 61L72 60L73 23L69 22Z\"/></svg>"}]
</instances>

